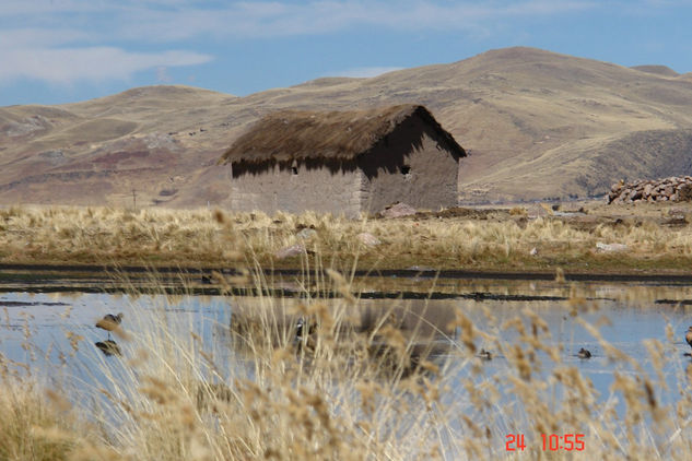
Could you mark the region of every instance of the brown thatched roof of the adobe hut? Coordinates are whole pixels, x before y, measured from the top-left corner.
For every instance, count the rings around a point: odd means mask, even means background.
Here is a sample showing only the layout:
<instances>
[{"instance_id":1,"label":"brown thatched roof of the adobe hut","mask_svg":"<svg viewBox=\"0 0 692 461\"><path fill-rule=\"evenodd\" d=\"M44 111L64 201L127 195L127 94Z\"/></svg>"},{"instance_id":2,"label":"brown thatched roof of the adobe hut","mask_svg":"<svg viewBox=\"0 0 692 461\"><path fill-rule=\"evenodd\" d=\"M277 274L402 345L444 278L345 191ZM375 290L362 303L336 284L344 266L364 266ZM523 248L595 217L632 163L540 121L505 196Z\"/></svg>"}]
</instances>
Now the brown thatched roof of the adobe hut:
<instances>
[{"instance_id":1,"label":"brown thatched roof of the adobe hut","mask_svg":"<svg viewBox=\"0 0 692 461\"><path fill-rule=\"evenodd\" d=\"M423 106L408 104L357 111L281 110L257 121L221 157L222 163L290 162L305 158L353 159L395 128L418 116L466 156L451 134Z\"/></svg>"}]
</instances>

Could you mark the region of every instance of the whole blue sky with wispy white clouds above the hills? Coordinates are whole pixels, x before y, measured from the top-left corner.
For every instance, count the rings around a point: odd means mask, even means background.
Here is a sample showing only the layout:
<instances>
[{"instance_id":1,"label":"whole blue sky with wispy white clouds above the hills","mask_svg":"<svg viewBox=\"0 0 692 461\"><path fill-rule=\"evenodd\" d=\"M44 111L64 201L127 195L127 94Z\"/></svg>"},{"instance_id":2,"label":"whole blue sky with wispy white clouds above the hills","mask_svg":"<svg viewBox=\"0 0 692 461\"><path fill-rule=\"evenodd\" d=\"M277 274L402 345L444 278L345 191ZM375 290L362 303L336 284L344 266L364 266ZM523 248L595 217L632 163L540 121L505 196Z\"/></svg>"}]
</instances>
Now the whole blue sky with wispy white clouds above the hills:
<instances>
[{"instance_id":1,"label":"whole blue sky with wispy white clouds above the hills","mask_svg":"<svg viewBox=\"0 0 692 461\"><path fill-rule=\"evenodd\" d=\"M531 46L692 72L692 0L0 0L0 106L247 95Z\"/></svg>"}]
</instances>

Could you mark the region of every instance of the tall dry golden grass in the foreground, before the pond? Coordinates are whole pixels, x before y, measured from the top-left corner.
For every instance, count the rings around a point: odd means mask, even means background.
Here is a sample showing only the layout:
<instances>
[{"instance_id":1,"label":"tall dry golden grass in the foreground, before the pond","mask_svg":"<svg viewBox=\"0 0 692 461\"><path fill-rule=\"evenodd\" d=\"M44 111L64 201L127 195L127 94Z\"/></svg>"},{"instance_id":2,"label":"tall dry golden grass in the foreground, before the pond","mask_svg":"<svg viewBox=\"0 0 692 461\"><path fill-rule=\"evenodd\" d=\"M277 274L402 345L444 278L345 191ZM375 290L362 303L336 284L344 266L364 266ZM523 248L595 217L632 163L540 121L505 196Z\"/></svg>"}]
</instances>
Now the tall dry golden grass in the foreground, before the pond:
<instances>
[{"instance_id":1,"label":"tall dry golden grass in the foreground, before the pond","mask_svg":"<svg viewBox=\"0 0 692 461\"><path fill-rule=\"evenodd\" d=\"M689 459L692 368L675 367L676 403L658 397L667 386L664 368L679 362L670 326L665 341L646 340L647 356L632 357L580 319L594 307L573 296L570 315L615 367L617 398L602 401L579 367L565 362L564 346L549 345L558 332L539 309L504 319L486 310L495 326L489 331L457 309L447 326L458 332L446 355L453 359L413 356L415 338L403 336L388 312L365 332L349 329L357 299L347 277L327 272L318 292L340 297L329 306L306 299L292 312L318 326L302 347L293 330L277 327L281 299L259 298L254 316L231 324L231 346L249 357L246 367L230 366L227 354L203 344L192 324L166 321L165 303L127 318L124 326L138 324L139 333L127 327L116 336L122 357L93 357L94 373L106 377L95 388L0 355L0 459ZM251 276L266 283L260 273ZM509 331L516 341L505 340ZM98 354L79 332L66 334L71 356ZM25 341L32 351L31 333ZM506 367L486 375L480 347L505 357ZM626 409L621 415L619 401ZM584 450L541 449L541 434L562 433L583 434ZM507 451L507 434L523 434L528 448Z\"/></svg>"}]
</instances>

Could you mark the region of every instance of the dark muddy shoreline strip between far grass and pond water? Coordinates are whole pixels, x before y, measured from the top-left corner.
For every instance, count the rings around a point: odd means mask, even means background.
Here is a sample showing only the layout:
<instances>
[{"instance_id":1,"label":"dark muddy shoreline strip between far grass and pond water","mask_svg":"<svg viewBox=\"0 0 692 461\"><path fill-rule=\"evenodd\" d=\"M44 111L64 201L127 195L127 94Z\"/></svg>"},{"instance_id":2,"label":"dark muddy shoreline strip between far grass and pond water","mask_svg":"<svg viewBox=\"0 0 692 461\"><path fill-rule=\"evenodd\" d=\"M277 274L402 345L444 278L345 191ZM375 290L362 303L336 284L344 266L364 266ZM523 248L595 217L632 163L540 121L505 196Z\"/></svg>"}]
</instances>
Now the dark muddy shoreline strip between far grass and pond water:
<instances>
[{"instance_id":1,"label":"dark muddy shoreline strip between far grass and pond water","mask_svg":"<svg viewBox=\"0 0 692 461\"><path fill-rule=\"evenodd\" d=\"M128 271L128 269L131 269ZM233 283L219 283L219 274ZM94 293L167 294L192 296L268 296L278 298L340 297L327 274L305 275L297 270L266 271L258 288L250 279L233 269L209 270L167 268L152 273L146 268L0 265L0 293ZM319 281L319 282L318 282ZM476 302L564 302L574 283L631 286L689 286L692 275L565 274L555 281L551 273L470 272L421 269L362 271L350 292L361 299L469 299ZM610 293L586 293L587 300L614 299ZM661 293L657 303L687 303L689 296L668 300Z\"/></svg>"}]
</instances>

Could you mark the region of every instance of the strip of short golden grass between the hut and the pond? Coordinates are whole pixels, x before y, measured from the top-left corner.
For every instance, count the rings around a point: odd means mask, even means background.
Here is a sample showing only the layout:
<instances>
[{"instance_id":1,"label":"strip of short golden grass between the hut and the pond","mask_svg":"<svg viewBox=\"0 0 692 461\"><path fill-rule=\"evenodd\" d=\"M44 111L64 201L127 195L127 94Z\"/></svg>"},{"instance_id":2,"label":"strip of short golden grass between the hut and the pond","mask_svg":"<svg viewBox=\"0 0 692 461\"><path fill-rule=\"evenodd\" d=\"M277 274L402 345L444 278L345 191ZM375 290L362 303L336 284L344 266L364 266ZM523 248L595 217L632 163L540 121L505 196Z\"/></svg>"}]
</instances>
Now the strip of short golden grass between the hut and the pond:
<instances>
[{"instance_id":1,"label":"strip of short golden grass between the hut and the pond","mask_svg":"<svg viewBox=\"0 0 692 461\"><path fill-rule=\"evenodd\" d=\"M0 263L233 268L254 260L270 269L301 268L303 256L315 263L319 255L342 270L689 273L689 203L570 206L585 213L530 205L353 221L310 212L12 206L0 210ZM362 233L378 245L364 244ZM610 244L626 249L597 247ZM303 256L277 256L296 245Z\"/></svg>"}]
</instances>

